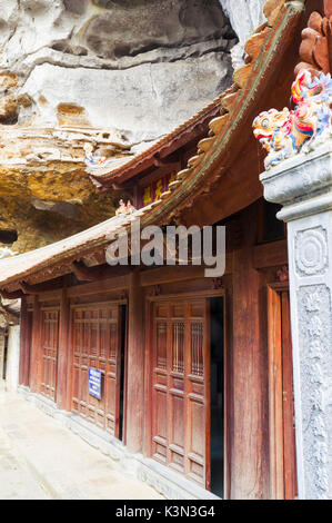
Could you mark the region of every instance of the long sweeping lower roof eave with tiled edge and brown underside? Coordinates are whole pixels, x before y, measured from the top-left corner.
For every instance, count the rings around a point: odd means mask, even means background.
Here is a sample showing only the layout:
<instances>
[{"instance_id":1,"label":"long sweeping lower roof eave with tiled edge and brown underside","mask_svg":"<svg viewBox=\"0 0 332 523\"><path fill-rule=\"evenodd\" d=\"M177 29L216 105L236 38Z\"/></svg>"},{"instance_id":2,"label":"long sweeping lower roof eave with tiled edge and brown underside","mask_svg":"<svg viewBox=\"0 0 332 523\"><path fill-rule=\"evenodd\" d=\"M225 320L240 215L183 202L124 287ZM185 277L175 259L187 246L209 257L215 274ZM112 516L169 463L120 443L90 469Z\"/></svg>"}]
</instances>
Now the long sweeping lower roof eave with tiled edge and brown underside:
<instances>
[{"instance_id":1,"label":"long sweeping lower roof eave with tiled edge and brown underside","mask_svg":"<svg viewBox=\"0 0 332 523\"><path fill-rule=\"evenodd\" d=\"M234 73L234 85L221 97L221 116L210 121L209 136L199 144L198 155L178 172L161 199L135 213L142 227L168 224L180 215L185 221L189 211L187 223L215 223L262 196L262 158L251 124L271 102L288 102L285 86L293 78L301 30L318 3L266 2L268 21L247 42L247 65ZM112 218L66 240L3 260L0 288L16 292L22 280L36 284L68 274L72 262L88 259L92 253L99 253L99 263L104 263L110 234L130 227L131 218Z\"/></svg>"}]
</instances>

